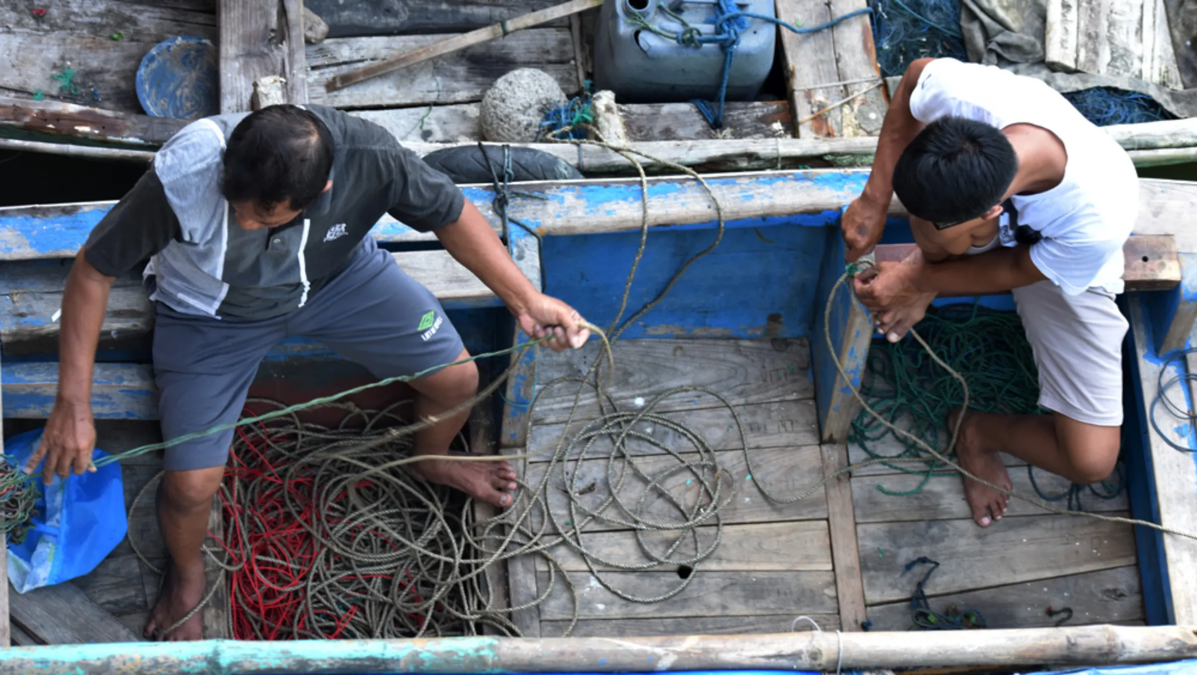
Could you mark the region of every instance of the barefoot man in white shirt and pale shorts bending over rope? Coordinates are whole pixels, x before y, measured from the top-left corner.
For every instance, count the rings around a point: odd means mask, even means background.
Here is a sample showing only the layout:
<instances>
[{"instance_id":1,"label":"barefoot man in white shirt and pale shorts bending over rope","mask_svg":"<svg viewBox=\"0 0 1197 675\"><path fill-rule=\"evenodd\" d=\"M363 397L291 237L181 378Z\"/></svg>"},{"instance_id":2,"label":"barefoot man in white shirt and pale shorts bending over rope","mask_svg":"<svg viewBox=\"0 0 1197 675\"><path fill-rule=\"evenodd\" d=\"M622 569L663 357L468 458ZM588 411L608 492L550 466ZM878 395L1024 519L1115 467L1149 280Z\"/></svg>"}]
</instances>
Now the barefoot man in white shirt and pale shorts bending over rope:
<instances>
[{"instance_id":1,"label":"barefoot man in white shirt and pale shorts bending over rope","mask_svg":"<svg viewBox=\"0 0 1197 675\"><path fill-rule=\"evenodd\" d=\"M954 59L911 63L886 114L873 172L843 219L847 259L881 239L897 193L918 249L855 282L877 330L900 340L940 293L1010 291L1050 415L965 412L956 452L1010 487L1001 452L1081 484L1120 446L1122 247L1138 209L1126 153L1032 78ZM947 420L955 422L955 411ZM1005 494L965 481L973 519L1001 519Z\"/></svg>"}]
</instances>

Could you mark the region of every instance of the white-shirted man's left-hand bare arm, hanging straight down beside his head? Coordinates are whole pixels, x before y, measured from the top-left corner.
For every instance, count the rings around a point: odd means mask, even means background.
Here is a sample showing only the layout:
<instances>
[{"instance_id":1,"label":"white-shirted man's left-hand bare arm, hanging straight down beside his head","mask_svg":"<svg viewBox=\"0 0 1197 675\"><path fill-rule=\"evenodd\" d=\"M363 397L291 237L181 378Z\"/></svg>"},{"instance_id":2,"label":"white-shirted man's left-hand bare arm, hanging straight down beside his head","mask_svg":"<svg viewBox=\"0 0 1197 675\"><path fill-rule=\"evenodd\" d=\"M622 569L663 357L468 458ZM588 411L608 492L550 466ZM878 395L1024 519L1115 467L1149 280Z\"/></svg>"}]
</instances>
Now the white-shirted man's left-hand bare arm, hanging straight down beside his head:
<instances>
[{"instance_id":1,"label":"white-shirted man's left-hand bare arm, hanging straight down beside his head","mask_svg":"<svg viewBox=\"0 0 1197 675\"><path fill-rule=\"evenodd\" d=\"M924 127L910 111L910 96L918 85L923 68L931 61L934 59L919 59L912 62L889 99L889 109L881 123L881 135L877 138L877 152L873 158L869 180L861 196L847 207L841 221L844 242L847 244L846 257L850 262L871 251L885 232L886 214L894 193L894 165L898 164L898 158L910 141Z\"/></svg>"}]
</instances>

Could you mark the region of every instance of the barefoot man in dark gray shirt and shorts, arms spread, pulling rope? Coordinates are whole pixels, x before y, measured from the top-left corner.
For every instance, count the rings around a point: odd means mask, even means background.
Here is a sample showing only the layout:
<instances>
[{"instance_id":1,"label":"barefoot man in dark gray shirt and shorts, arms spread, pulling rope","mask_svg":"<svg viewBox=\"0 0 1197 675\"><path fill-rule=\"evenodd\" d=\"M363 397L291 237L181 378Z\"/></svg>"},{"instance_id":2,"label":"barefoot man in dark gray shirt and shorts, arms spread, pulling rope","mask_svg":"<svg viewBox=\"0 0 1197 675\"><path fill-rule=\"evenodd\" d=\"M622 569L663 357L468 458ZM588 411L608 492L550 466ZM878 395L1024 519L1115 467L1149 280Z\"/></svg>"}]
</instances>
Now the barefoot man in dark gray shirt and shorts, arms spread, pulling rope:
<instances>
[{"instance_id":1,"label":"barefoot man in dark gray shirt and shorts, arms spread, pulling rope","mask_svg":"<svg viewBox=\"0 0 1197 675\"><path fill-rule=\"evenodd\" d=\"M370 236L384 213L436 232L521 328L551 336L553 349L589 338L576 311L519 272L461 190L381 127L317 105L208 117L162 147L75 256L62 300L57 400L26 472L43 457L47 482L86 470L96 444L91 373L108 294L116 276L146 260L168 440L236 421L259 361L287 336L324 342L379 378L468 357L432 293ZM473 363L442 369L412 387L417 418L438 418L475 395L478 370ZM468 414L417 433L414 452L446 455ZM158 513L171 565L146 637L201 637L199 615L170 628L205 594L200 546L232 433L165 452ZM431 460L411 470L498 506L510 505L516 489L503 461Z\"/></svg>"}]
</instances>

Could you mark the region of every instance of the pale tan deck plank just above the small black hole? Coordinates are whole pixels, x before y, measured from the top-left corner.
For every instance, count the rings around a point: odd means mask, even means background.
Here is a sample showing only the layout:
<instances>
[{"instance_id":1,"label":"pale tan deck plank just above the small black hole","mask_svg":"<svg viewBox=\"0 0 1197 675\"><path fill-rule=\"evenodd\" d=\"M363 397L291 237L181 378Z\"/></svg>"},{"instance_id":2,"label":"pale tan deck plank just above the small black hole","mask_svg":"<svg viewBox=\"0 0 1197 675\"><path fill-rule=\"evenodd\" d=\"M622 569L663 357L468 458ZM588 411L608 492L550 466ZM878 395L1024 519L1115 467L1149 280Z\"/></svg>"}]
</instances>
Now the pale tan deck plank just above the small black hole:
<instances>
[{"instance_id":1,"label":"pale tan deck plank just above the small black hole","mask_svg":"<svg viewBox=\"0 0 1197 675\"><path fill-rule=\"evenodd\" d=\"M700 551L706 551L719 536L717 528L699 527L695 547L691 533L646 531L640 536L644 546L657 555L664 555L670 546L681 539L672 558L689 558ZM691 565L666 562L652 565L652 559L644 554L637 536L632 531L604 531L582 535L583 545L591 552L620 565L651 565L644 572L678 572ZM561 545L548 551L567 572L585 572L589 570L585 560L571 546ZM536 572L547 573L548 561L536 555ZM618 567L594 561L600 571L619 571ZM791 523L755 523L743 525L724 525L718 547L709 558L698 562L695 574L710 572L803 572L831 571L831 540L827 534L827 521L800 521ZM680 572L678 572L680 573ZM743 576L743 574L741 574Z\"/></svg>"}]
</instances>

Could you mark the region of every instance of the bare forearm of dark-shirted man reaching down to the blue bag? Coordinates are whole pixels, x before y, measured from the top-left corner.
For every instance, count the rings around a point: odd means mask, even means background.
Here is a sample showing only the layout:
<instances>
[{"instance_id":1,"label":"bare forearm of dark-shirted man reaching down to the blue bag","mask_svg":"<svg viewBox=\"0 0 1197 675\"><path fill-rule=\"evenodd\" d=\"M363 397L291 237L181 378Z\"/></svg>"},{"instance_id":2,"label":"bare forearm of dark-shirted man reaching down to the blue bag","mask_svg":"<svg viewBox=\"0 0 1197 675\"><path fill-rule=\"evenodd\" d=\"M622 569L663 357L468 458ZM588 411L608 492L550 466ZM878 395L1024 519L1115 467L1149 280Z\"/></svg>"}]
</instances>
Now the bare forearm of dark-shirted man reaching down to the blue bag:
<instances>
[{"instance_id":1,"label":"bare forearm of dark-shirted man reaching down to the blue bag","mask_svg":"<svg viewBox=\"0 0 1197 675\"><path fill-rule=\"evenodd\" d=\"M83 474L91 462L96 446L91 373L114 280L96 270L83 250L67 275L59 335L59 393L42 442L25 466L25 473L32 473L47 457L42 473L47 485L55 474L67 478L72 467L77 475Z\"/></svg>"}]
</instances>

